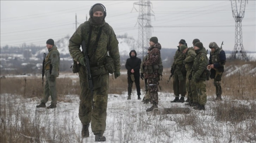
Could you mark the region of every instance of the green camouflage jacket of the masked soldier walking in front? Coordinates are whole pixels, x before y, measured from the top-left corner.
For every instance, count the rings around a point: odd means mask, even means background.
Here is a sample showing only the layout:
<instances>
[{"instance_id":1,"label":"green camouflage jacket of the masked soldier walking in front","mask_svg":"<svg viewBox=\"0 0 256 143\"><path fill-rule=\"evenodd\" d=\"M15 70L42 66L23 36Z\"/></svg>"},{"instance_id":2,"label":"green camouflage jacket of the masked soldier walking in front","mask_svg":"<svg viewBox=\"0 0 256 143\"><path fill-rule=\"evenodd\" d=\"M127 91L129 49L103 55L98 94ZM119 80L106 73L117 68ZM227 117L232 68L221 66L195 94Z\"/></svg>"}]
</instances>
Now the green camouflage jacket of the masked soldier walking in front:
<instances>
[{"instance_id":1,"label":"green camouflage jacket of the masked soldier walking in front","mask_svg":"<svg viewBox=\"0 0 256 143\"><path fill-rule=\"evenodd\" d=\"M119 72L120 65L120 55L118 49L118 41L114 30L108 23L104 22L101 25L91 25L92 34L89 47L86 47L87 54L90 58L90 63L97 63L104 61L105 57L108 55L114 60L115 71ZM99 33L100 27L103 27L98 46L96 47L96 38ZM84 57L84 53L80 50L80 45L83 40L85 40L86 46L89 39L90 33L90 18L89 21L82 23L75 33L69 39L69 53L75 61L79 61ZM95 50L95 51L94 51ZM80 61L79 61L80 62Z\"/></svg>"}]
</instances>

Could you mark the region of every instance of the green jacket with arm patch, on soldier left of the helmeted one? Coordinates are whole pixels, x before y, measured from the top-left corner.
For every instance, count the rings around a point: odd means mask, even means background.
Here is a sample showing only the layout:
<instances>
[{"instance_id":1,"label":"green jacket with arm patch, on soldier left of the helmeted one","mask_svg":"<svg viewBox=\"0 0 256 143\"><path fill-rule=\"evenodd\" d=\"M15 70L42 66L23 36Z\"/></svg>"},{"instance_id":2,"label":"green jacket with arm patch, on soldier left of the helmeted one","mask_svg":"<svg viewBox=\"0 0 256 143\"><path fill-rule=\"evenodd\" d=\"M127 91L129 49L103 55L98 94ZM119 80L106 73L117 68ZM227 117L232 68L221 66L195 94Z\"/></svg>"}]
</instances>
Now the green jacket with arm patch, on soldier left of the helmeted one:
<instances>
[{"instance_id":1,"label":"green jacket with arm patch, on soldier left of the helmeted one","mask_svg":"<svg viewBox=\"0 0 256 143\"><path fill-rule=\"evenodd\" d=\"M198 82L200 80L206 81L206 67L207 67L207 52L205 48L195 50L196 57L192 67L192 80Z\"/></svg>"}]
</instances>

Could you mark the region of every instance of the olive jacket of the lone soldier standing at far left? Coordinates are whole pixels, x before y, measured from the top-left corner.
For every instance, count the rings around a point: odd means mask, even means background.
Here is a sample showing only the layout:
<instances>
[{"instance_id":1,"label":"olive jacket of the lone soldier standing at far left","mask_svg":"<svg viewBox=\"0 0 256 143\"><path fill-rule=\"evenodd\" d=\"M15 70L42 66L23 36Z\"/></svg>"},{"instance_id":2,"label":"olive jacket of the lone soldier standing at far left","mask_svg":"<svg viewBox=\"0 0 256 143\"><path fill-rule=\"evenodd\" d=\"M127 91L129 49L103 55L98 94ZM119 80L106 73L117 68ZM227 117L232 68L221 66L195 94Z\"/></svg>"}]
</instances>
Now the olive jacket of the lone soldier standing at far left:
<instances>
[{"instance_id":1,"label":"olive jacket of the lone soldier standing at far left","mask_svg":"<svg viewBox=\"0 0 256 143\"><path fill-rule=\"evenodd\" d=\"M45 57L45 70L51 70L51 75L59 76L60 69L60 53L57 50L57 46L54 45L52 48L48 49L49 53Z\"/></svg>"}]
</instances>

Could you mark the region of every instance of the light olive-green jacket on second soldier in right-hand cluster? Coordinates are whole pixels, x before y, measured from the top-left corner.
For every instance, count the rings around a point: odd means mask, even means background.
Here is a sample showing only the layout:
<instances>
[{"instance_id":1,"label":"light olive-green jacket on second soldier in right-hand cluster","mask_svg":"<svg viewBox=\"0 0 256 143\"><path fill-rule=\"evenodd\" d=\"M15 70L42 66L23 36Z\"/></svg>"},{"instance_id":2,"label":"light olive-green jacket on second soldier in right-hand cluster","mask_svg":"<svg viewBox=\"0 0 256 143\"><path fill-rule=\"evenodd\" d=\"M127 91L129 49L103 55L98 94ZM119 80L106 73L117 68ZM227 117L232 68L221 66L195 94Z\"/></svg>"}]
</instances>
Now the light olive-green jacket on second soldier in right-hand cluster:
<instances>
[{"instance_id":1,"label":"light olive-green jacket on second soldier in right-hand cluster","mask_svg":"<svg viewBox=\"0 0 256 143\"><path fill-rule=\"evenodd\" d=\"M185 53L186 58L184 60L186 70L191 70L193 66L194 59L196 57L196 52L193 47L188 48L187 52Z\"/></svg>"}]
</instances>

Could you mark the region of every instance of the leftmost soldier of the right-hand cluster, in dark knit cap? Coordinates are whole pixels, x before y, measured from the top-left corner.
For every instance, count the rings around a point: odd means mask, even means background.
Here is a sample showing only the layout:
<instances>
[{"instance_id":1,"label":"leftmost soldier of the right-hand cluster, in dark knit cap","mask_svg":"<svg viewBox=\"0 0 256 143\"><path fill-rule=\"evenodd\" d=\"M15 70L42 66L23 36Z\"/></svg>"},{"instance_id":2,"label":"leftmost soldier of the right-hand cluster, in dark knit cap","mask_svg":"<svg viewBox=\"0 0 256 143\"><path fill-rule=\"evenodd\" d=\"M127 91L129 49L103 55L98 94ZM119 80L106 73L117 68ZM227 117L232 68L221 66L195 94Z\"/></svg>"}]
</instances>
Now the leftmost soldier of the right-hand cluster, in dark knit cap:
<instances>
[{"instance_id":1,"label":"leftmost soldier of the right-hand cluster, in dark knit cap","mask_svg":"<svg viewBox=\"0 0 256 143\"><path fill-rule=\"evenodd\" d=\"M185 102L184 97L187 94L187 89L186 89L186 74L187 71L185 69L185 64L183 61L185 60L186 56L183 54L180 50L180 47L182 45L187 46L187 43L184 39L181 39L179 41L179 46L175 56L174 56L174 61L171 66L171 74L173 74L173 91L175 95L175 99L171 102ZM179 94L181 94L181 98L179 99Z\"/></svg>"}]
</instances>

